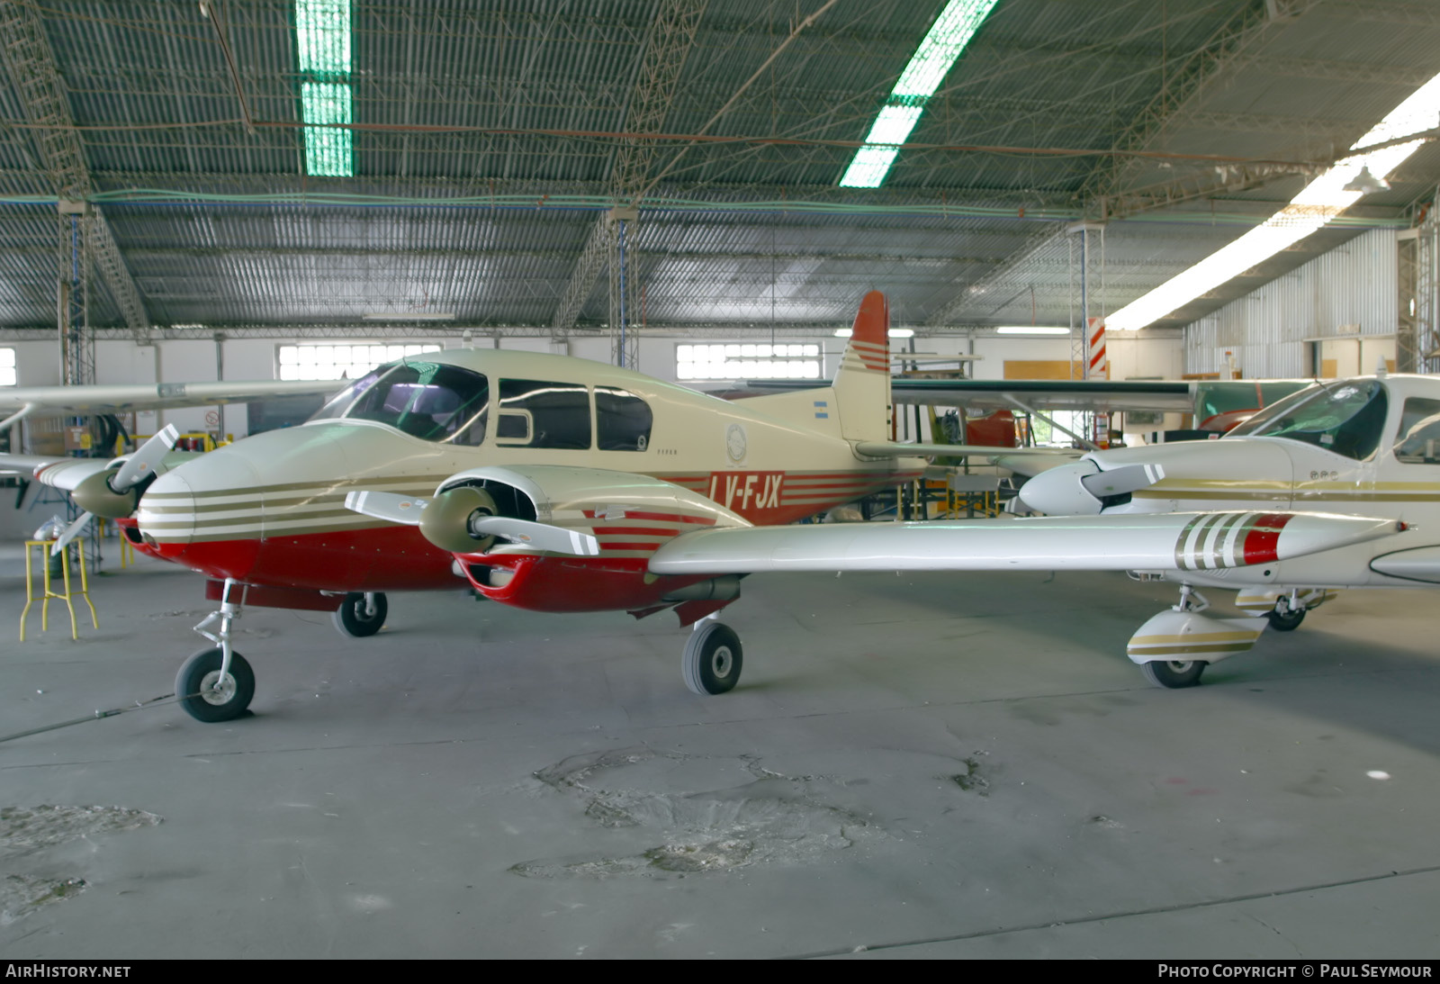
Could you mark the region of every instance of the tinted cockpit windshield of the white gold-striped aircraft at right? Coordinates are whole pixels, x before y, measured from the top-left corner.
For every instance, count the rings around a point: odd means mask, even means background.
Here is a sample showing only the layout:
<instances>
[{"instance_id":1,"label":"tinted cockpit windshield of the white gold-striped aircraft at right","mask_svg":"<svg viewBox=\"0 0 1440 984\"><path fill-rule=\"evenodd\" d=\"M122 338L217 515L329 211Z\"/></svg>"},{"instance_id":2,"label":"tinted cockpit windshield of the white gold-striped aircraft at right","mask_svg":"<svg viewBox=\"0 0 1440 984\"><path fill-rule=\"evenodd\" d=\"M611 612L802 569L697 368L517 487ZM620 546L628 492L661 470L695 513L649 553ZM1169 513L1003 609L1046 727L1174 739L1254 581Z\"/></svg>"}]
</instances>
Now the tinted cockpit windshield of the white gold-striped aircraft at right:
<instances>
[{"instance_id":1,"label":"tinted cockpit windshield of the white gold-striped aircraft at right","mask_svg":"<svg viewBox=\"0 0 1440 984\"><path fill-rule=\"evenodd\" d=\"M1362 461L1380 447L1388 408L1378 380L1325 383L1267 406L1227 437L1290 438Z\"/></svg>"}]
</instances>

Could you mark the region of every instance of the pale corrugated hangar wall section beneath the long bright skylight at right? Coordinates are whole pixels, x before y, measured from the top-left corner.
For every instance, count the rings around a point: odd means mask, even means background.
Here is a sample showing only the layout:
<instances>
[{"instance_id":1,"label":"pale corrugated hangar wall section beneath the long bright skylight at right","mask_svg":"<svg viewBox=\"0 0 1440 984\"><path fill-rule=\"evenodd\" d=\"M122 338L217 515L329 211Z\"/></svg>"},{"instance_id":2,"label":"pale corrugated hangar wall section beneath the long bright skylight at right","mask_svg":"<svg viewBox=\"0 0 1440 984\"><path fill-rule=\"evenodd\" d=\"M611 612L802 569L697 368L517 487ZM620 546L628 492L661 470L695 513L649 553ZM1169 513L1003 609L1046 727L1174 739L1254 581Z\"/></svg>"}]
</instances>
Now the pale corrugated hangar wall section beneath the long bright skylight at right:
<instances>
[{"instance_id":1,"label":"pale corrugated hangar wall section beneath the long bright skylight at right","mask_svg":"<svg viewBox=\"0 0 1440 984\"><path fill-rule=\"evenodd\" d=\"M1224 372L1231 352L1246 379L1303 377L1305 339L1392 336L1395 246L1395 229L1371 229L1195 321L1185 328L1185 372Z\"/></svg>"}]
</instances>

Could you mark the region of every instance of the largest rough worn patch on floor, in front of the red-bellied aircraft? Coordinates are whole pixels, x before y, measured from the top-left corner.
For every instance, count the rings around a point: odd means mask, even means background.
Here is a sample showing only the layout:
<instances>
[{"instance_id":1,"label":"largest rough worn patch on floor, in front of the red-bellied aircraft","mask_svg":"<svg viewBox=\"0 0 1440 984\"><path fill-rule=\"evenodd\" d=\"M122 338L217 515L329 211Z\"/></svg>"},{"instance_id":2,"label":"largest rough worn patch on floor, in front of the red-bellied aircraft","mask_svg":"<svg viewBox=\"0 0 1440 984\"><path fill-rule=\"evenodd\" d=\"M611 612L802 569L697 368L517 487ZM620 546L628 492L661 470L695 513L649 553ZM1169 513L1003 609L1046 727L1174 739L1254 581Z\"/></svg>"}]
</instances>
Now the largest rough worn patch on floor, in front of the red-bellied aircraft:
<instances>
[{"instance_id":1,"label":"largest rough worn patch on floor, in front of the red-bellied aircraft","mask_svg":"<svg viewBox=\"0 0 1440 984\"><path fill-rule=\"evenodd\" d=\"M694 764L697 759L742 781L713 790L654 790L660 772L647 764ZM675 775L684 777L684 769ZM536 772L557 792L585 804L585 815L609 828L635 828L660 843L615 857L539 859L511 866L526 877L674 877L730 872L756 864L805 863L886 833L873 821L832 802L835 777L789 777L759 759L716 759L648 748L577 755Z\"/></svg>"}]
</instances>

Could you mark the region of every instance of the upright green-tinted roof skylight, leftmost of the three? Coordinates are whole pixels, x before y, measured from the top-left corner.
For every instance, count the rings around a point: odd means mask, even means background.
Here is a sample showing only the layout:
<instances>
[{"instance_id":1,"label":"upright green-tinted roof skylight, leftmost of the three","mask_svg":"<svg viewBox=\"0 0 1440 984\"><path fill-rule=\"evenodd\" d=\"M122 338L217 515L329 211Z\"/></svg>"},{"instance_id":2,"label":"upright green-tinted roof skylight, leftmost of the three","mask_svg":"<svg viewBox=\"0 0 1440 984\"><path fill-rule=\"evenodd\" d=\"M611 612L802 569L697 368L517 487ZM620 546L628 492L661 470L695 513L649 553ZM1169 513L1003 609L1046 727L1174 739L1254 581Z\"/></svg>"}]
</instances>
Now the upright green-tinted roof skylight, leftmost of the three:
<instances>
[{"instance_id":1,"label":"upright green-tinted roof skylight, leftmost of the three","mask_svg":"<svg viewBox=\"0 0 1440 984\"><path fill-rule=\"evenodd\" d=\"M354 174L350 92L350 0L295 0L295 52L301 117L307 124L305 173Z\"/></svg>"}]
</instances>

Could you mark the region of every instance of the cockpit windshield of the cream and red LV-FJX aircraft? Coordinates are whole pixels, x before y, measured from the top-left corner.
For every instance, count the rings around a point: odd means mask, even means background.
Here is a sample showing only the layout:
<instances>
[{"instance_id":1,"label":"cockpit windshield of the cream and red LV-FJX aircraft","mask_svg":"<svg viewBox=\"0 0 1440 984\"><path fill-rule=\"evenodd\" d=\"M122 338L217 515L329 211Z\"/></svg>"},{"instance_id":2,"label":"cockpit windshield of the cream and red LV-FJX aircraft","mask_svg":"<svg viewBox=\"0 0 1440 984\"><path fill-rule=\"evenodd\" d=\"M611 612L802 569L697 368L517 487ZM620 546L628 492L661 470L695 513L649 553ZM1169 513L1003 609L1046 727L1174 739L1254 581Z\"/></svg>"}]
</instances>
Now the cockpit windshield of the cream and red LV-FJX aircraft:
<instances>
[{"instance_id":1,"label":"cockpit windshield of the cream and red LV-FJX aircraft","mask_svg":"<svg viewBox=\"0 0 1440 984\"><path fill-rule=\"evenodd\" d=\"M490 386L481 373L436 362L379 366L310 418L379 421L425 441L485 438Z\"/></svg>"}]
</instances>

